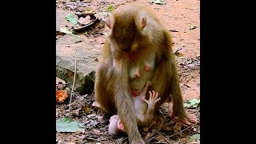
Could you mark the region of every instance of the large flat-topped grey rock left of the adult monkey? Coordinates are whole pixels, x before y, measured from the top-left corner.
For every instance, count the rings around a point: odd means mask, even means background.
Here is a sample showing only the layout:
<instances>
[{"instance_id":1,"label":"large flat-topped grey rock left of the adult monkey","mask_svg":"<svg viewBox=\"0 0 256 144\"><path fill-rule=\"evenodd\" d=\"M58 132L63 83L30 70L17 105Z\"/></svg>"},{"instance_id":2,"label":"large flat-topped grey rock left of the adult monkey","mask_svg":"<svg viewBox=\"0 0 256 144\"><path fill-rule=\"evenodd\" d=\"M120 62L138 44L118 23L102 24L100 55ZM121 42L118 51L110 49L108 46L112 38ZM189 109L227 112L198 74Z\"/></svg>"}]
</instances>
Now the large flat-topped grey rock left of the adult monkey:
<instances>
[{"instance_id":1,"label":"large flat-topped grey rock left of the adult monkey","mask_svg":"<svg viewBox=\"0 0 256 144\"><path fill-rule=\"evenodd\" d=\"M74 81L74 67L76 56L77 74L74 91L79 94L91 94L94 90L94 74L98 62L94 59L100 53L86 38L74 34L65 34L56 40L56 77L72 87Z\"/></svg>"}]
</instances>

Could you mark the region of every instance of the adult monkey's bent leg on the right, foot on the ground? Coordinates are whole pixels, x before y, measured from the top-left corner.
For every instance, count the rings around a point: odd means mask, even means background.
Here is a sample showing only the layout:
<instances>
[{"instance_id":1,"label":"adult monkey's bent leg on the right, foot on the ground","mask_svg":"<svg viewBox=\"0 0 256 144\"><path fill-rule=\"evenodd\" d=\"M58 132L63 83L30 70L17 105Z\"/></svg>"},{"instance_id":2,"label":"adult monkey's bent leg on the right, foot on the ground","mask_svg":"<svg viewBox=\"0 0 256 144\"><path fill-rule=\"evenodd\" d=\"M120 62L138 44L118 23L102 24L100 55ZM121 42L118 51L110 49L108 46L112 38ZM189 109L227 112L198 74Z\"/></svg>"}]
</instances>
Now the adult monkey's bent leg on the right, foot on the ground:
<instances>
[{"instance_id":1,"label":"adult monkey's bent leg on the right, foot on the ground","mask_svg":"<svg viewBox=\"0 0 256 144\"><path fill-rule=\"evenodd\" d=\"M152 83L154 90L158 91L158 97L161 98L158 106L165 102L166 99L169 99L171 95L173 102L171 118L177 116L182 122L188 125L190 125L190 122L197 122L194 118L188 117L184 109L178 80L178 69L174 58L170 58L170 55L167 55L166 59L158 62Z\"/></svg>"}]
</instances>

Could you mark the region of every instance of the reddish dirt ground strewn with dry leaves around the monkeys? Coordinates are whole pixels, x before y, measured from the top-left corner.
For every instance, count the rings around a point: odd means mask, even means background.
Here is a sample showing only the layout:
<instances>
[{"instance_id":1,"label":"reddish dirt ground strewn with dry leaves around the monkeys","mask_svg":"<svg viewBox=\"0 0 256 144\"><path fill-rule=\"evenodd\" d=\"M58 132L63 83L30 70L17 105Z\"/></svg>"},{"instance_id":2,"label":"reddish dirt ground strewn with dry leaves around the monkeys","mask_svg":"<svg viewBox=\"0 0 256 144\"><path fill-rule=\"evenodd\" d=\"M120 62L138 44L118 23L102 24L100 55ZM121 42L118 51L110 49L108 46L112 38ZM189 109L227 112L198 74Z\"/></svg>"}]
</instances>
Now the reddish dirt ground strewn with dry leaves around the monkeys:
<instances>
[{"instance_id":1,"label":"reddish dirt ground strewn with dry leaves around the monkeys","mask_svg":"<svg viewBox=\"0 0 256 144\"><path fill-rule=\"evenodd\" d=\"M94 10L96 13L106 12L106 6L126 5L130 2L140 2L154 8L155 13L161 18L172 34L174 52L178 62L180 86L184 102L192 98L200 98L200 0L165 0L166 5L150 3L150 0L89 0L70 1L56 0L56 10L70 10L83 12ZM104 20L104 19L102 19ZM95 49L102 51L106 34L110 29L103 21L90 26L87 34L80 34L87 38ZM56 35L59 38L61 35ZM70 89L71 90L71 89ZM70 95L70 90L68 94ZM107 134L107 126L110 115L105 111L93 106L94 94L74 94L72 96L71 110L69 114L69 98L66 102L56 102L56 118L65 118L71 115L74 121L82 122L86 130L81 133L58 133L56 143L127 143L127 136L121 135L117 139L110 138ZM162 126L150 126L149 129L140 130L142 138L147 143L200 143L190 142L193 134L200 134L200 123L185 126L170 120L171 104L165 103L159 109L163 124ZM200 106L186 108L188 113L200 118Z\"/></svg>"}]
</instances>

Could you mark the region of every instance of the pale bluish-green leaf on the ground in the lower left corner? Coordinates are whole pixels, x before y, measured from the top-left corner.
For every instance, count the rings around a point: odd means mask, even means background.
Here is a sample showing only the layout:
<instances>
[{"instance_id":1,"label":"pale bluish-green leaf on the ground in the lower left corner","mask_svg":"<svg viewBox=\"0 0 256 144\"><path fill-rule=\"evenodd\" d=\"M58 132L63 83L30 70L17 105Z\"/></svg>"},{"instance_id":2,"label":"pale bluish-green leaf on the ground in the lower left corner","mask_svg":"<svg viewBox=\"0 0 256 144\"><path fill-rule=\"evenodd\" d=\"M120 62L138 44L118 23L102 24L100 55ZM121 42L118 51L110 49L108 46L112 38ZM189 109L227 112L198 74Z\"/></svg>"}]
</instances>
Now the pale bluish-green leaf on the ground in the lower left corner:
<instances>
[{"instance_id":1,"label":"pale bluish-green leaf on the ground in the lower left corner","mask_svg":"<svg viewBox=\"0 0 256 144\"><path fill-rule=\"evenodd\" d=\"M56 120L57 132L76 132L77 130L83 130L84 125L81 122L72 122L70 118L61 118Z\"/></svg>"}]
</instances>

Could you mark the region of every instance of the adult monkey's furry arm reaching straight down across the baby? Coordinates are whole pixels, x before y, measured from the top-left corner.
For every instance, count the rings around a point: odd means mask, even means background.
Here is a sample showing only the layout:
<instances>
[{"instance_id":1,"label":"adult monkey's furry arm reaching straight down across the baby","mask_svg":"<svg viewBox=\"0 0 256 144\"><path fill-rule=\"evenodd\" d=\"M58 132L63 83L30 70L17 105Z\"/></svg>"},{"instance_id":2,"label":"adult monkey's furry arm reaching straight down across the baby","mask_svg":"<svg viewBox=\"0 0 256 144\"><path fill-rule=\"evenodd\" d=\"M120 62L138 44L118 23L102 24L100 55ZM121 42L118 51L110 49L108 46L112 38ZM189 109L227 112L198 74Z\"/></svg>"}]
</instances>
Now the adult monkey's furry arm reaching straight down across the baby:
<instances>
[{"instance_id":1,"label":"adult monkey's furry arm reaching straight down across the baby","mask_svg":"<svg viewBox=\"0 0 256 144\"><path fill-rule=\"evenodd\" d=\"M134 114L133 102L128 86L127 65L122 60L114 64L116 66L114 99L125 131L130 143L145 143L138 131L138 124Z\"/></svg>"}]
</instances>

